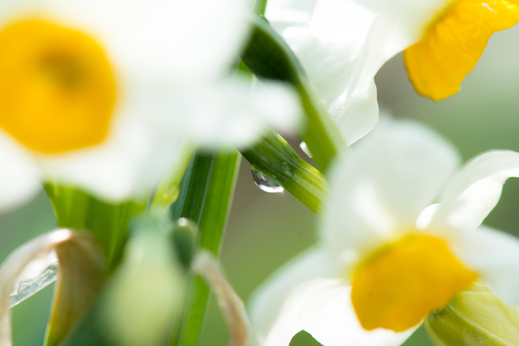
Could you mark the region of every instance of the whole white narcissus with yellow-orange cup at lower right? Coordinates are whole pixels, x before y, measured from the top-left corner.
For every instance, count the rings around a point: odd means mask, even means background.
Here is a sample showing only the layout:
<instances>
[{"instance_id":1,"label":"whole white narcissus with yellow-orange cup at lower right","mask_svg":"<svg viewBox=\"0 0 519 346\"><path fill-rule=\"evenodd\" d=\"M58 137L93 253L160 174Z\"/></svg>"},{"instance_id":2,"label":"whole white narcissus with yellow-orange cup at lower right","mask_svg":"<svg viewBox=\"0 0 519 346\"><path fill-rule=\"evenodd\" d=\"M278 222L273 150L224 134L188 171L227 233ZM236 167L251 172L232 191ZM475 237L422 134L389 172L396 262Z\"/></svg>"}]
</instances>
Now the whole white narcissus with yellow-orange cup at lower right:
<instances>
[{"instance_id":1,"label":"whole white narcissus with yellow-orange cup at lower right","mask_svg":"<svg viewBox=\"0 0 519 346\"><path fill-rule=\"evenodd\" d=\"M519 153L457 165L448 143L404 121L380 124L344 153L320 244L253 299L261 344L288 345L304 329L325 346L399 345L475 281L519 303L519 240L481 225L519 176Z\"/></svg>"}]
</instances>

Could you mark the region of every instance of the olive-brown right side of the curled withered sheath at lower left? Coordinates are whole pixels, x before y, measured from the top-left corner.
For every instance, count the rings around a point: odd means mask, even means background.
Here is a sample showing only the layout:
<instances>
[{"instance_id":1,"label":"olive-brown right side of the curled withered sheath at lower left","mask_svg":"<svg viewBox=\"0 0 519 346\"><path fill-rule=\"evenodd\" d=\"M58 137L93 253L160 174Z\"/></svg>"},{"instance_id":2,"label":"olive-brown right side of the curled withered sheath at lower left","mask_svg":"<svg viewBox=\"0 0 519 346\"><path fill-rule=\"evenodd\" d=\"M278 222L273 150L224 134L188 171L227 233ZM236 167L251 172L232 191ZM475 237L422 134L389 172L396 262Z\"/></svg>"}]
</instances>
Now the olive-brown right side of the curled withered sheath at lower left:
<instances>
[{"instance_id":1,"label":"olive-brown right side of the curled withered sheath at lower left","mask_svg":"<svg viewBox=\"0 0 519 346\"><path fill-rule=\"evenodd\" d=\"M46 346L56 346L97 297L105 280L101 245L87 232L76 233L55 248L59 271L50 313Z\"/></svg>"}]
</instances>

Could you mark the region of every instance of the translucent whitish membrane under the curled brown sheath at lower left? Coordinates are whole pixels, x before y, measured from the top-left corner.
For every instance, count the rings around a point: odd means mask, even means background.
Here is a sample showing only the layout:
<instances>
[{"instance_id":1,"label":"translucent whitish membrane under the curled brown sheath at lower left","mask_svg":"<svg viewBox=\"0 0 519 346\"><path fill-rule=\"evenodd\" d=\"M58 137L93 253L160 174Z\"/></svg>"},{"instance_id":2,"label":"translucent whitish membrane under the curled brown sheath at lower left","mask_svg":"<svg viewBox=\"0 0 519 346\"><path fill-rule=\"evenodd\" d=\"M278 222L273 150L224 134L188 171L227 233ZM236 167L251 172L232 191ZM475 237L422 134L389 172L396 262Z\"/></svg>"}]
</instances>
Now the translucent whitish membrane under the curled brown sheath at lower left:
<instances>
[{"instance_id":1,"label":"translucent whitish membrane under the curled brown sheath at lower left","mask_svg":"<svg viewBox=\"0 0 519 346\"><path fill-rule=\"evenodd\" d=\"M52 251L48 256L31 262L12 287L9 308L47 287L56 281L57 277L58 257L55 252Z\"/></svg>"}]
</instances>

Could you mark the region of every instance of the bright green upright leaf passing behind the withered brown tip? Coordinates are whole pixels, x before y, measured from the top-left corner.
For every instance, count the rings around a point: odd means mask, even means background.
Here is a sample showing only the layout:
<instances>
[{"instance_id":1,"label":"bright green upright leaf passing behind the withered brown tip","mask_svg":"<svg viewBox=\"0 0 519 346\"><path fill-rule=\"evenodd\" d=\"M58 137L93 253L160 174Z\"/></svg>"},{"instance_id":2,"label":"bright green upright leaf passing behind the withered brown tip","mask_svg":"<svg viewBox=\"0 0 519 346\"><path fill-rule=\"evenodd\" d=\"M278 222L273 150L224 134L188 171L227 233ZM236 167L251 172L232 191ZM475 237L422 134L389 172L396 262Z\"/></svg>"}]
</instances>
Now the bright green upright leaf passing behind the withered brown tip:
<instances>
[{"instance_id":1,"label":"bright green upright leaf passing behind the withered brown tip","mask_svg":"<svg viewBox=\"0 0 519 346\"><path fill-rule=\"evenodd\" d=\"M230 206L233 201L240 155L220 153L216 156L207 192L206 203L199 227L199 247L220 254L223 236L227 227ZM203 317L209 299L209 287L198 276L189 284L186 310L180 329L172 331L170 345L195 346L200 335Z\"/></svg>"}]
</instances>

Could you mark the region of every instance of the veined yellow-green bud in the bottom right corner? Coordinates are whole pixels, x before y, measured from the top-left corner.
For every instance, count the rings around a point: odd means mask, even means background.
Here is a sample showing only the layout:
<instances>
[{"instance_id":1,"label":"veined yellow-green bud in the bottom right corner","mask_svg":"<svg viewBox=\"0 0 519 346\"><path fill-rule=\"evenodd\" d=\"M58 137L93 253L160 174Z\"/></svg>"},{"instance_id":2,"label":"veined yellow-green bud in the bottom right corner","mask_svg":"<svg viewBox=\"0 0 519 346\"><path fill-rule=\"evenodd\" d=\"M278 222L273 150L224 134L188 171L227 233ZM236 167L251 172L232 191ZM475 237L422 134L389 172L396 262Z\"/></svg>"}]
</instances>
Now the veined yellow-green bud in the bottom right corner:
<instances>
[{"instance_id":1,"label":"veined yellow-green bud in the bottom right corner","mask_svg":"<svg viewBox=\"0 0 519 346\"><path fill-rule=\"evenodd\" d=\"M436 346L512 346L519 340L519 311L475 283L431 313L425 327Z\"/></svg>"}]
</instances>

